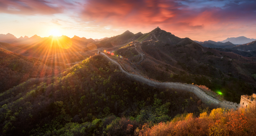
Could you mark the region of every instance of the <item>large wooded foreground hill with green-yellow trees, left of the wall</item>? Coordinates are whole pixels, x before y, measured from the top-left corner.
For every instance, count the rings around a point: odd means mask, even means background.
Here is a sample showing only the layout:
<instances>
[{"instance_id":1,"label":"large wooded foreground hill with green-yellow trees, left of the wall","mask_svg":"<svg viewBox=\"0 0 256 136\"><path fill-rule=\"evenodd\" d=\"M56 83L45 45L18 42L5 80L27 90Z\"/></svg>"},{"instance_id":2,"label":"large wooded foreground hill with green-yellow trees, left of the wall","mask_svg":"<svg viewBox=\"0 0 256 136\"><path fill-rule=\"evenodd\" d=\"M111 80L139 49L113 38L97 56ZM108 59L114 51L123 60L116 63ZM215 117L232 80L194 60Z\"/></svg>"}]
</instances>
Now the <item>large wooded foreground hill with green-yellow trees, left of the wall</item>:
<instances>
[{"instance_id":1,"label":"large wooded foreground hill with green-yellow trees, left of the wall","mask_svg":"<svg viewBox=\"0 0 256 136\"><path fill-rule=\"evenodd\" d=\"M60 135L57 130L73 122L87 124L81 131L84 135L101 135L104 131L127 135L140 124L168 121L185 111L199 115L198 106L206 108L192 93L156 89L128 79L101 55L42 83L30 79L9 89L0 95L0 105L1 135ZM104 130L112 121L130 130L111 126Z\"/></svg>"}]
</instances>

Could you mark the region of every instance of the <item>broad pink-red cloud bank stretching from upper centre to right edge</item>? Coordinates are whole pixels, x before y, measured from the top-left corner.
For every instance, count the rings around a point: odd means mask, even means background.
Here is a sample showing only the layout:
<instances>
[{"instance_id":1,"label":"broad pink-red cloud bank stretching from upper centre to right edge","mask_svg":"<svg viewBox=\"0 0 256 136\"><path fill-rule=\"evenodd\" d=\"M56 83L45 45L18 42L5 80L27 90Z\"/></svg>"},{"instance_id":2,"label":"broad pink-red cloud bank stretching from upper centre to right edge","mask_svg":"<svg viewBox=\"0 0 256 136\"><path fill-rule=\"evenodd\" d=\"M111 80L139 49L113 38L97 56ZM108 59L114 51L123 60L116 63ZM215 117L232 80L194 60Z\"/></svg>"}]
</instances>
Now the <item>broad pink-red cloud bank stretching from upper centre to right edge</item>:
<instances>
[{"instance_id":1,"label":"broad pink-red cloud bank stretching from upper centre to right edge","mask_svg":"<svg viewBox=\"0 0 256 136\"><path fill-rule=\"evenodd\" d=\"M167 24L173 26L175 24L177 29L181 27L194 30L227 21L253 20L256 17L256 2L237 3L226 3L222 7L198 8L189 7L179 1L167 0L88 0L81 12L81 18L118 27L167 26ZM239 18L244 20L238 20Z\"/></svg>"}]
</instances>

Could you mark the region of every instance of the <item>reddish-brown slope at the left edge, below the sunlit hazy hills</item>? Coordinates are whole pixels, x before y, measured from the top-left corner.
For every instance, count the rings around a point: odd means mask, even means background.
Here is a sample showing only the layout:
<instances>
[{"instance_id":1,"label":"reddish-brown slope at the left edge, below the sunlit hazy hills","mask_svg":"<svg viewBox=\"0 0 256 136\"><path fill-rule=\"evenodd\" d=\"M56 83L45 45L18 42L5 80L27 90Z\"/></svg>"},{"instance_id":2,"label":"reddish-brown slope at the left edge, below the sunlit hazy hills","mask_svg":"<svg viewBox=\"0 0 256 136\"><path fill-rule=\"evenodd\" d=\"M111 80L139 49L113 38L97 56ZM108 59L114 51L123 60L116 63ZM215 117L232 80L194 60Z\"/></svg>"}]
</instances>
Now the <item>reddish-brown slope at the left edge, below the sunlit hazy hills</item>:
<instances>
[{"instance_id":1,"label":"reddish-brown slope at the left edge, below the sunlit hazy hills","mask_svg":"<svg viewBox=\"0 0 256 136\"><path fill-rule=\"evenodd\" d=\"M58 73L56 70L45 66L36 58L26 57L0 48L0 92L4 92L30 78L42 78L54 72Z\"/></svg>"}]
</instances>

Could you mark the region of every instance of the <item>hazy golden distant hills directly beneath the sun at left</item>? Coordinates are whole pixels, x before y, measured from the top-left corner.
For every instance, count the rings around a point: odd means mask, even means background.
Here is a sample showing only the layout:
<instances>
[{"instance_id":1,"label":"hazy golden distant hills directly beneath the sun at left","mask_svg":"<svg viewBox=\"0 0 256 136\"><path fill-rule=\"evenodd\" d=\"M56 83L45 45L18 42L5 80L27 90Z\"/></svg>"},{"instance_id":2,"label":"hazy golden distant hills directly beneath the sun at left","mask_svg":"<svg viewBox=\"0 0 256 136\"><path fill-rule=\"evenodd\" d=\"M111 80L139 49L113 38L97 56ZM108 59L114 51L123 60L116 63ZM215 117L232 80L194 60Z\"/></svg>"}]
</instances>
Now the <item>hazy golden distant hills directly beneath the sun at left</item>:
<instances>
[{"instance_id":1,"label":"hazy golden distant hills directly beneath the sun at left","mask_svg":"<svg viewBox=\"0 0 256 136\"><path fill-rule=\"evenodd\" d=\"M95 54L96 51L83 51L85 46L92 42L94 42L93 39L77 36L69 38L62 35L41 38L34 35L14 43L16 45L0 43L0 47L24 56L39 58L47 66L65 69Z\"/></svg>"}]
</instances>

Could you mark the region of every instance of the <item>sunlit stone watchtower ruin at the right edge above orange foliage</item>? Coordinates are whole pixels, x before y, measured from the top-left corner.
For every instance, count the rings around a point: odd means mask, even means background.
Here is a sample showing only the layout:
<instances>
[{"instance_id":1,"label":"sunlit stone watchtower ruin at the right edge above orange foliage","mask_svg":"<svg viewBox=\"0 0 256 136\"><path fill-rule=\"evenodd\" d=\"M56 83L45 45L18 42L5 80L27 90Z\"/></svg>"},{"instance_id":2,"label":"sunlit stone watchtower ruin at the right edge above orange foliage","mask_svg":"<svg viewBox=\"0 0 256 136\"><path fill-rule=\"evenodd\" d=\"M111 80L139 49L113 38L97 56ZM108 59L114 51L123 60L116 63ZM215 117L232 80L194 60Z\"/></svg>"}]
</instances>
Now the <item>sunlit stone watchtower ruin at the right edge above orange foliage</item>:
<instances>
[{"instance_id":1,"label":"sunlit stone watchtower ruin at the right edge above orange foliage","mask_svg":"<svg viewBox=\"0 0 256 136\"><path fill-rule=\"evenodd\" d=\"M246 108L248 106L256 106L256 94L253 94L252 96L241 96L240 108Z\"/></svg>"}]
</instances>

